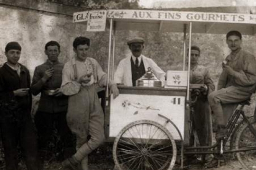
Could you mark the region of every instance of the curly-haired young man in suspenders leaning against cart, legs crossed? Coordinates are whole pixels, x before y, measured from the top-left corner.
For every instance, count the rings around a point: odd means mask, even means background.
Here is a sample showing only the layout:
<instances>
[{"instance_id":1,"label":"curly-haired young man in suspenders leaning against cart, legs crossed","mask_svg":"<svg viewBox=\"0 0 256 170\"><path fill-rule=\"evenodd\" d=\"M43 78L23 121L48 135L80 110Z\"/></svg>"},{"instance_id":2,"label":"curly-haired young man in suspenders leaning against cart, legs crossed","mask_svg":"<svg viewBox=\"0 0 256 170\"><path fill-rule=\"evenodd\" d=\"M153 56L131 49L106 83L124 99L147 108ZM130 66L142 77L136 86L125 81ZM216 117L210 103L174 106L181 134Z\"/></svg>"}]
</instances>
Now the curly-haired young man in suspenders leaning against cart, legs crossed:
<instances>
[{"instance_id":1,"label":"curly-haired young man in suspenders leaning against cart, legs crossed","mask_svg":"<svg viewBox=\"0 0 256 170\"><path fill-rule=\"evenodd\" d=\"M104 114L97 95L97 86L107 84L107 74L96 59L89 57L90 39L76 37L75 56L63 69L62 92L69 96L67 122L76 135L77 152L62 162L64 168L88 170L88 154L104 141ZM110 82L114 98L119 94Z\"/></svg>"}]
</instances>

